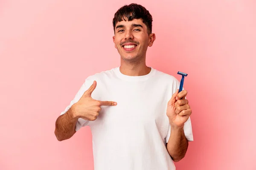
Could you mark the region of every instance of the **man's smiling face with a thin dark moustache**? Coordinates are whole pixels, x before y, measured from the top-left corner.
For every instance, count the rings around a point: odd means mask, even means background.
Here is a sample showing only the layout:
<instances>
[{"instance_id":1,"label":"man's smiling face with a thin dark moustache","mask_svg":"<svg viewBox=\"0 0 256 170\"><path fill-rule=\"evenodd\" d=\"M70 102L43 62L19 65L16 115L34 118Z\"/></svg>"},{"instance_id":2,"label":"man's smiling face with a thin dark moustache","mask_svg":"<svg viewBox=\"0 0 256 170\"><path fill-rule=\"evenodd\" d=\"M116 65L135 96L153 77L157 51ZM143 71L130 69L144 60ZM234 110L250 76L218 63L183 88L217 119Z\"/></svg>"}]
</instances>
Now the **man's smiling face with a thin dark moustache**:
<instances>
[{"instance_id":1,"label":"man's smiling face with a thin dark moustache","mask_svg":"<svg viewBox=\"0 0 256 170\"><path fill-rule=\"evenodd\" d=\"M122 59L138 61L145 57L148 46L152 46L155 34L148 35L141 19L116 23L113 42Z\"/></svg>"}]
</instances>

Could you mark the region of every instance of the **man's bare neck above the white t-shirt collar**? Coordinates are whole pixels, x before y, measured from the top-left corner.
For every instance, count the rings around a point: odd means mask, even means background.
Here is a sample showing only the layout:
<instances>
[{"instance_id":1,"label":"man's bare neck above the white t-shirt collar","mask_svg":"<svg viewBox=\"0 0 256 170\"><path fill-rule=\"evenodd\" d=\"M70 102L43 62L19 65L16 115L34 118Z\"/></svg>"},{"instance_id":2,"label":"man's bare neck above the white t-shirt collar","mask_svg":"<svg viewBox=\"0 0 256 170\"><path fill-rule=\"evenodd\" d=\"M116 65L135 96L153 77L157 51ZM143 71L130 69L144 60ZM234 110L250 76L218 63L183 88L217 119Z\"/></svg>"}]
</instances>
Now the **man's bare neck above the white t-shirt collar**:
<instances>
[{"instance_id":1,"label":"man's bare neck above the white t-shirt collar","mask_svg":"<svg viewBox=\"0 0 256 170\"><path fill-rule=\"evenodd\" d=\"M144 76L151 71L145 61L131 63L121 60L120 72L127 76Z\"/></svg>"}]
</instances>

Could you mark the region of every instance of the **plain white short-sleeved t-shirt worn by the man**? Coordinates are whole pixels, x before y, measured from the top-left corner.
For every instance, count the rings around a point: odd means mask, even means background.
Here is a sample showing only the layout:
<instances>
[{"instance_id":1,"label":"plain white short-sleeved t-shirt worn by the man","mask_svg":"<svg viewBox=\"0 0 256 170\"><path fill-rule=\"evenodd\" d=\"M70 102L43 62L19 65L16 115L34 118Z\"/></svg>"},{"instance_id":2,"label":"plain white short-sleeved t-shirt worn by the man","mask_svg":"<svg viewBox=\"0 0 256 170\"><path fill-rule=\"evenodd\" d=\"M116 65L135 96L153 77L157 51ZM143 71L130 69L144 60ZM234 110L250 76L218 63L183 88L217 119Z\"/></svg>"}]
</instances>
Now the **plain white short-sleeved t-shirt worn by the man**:
<instances>
[{"instance_id":1,"label":"plain white short-sleeved t-shirt worn by the man","mask_svg":"<svg viewBox=\"0 0 256 170\"><path fill-rule=\"evenodd\" d=\"M95 170L175 170L166 149L170 137L167 103L179 88L173 76L151 68L144 76L127 76L119 67L88 77L66 111L97 81L92 98L117 102L102 106L95 121L79 118L76 131L90 126ZM185 136L193 141L190 118Z\"/></svg>"}]
</instances>

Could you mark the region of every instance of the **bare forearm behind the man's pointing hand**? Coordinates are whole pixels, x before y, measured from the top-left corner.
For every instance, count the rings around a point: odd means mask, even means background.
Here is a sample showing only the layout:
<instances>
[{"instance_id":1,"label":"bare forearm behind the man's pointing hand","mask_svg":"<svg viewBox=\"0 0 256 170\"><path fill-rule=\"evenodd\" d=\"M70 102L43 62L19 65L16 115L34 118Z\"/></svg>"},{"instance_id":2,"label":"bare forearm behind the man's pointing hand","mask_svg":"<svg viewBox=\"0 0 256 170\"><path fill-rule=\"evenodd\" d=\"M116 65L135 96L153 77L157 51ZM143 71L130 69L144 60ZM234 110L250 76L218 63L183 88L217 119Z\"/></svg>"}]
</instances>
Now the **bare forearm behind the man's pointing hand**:
<instances>
[{"instance_id":1,"label":"bare forearm behind the man's pointing hand","mask_svg":"<svg viewBox=\"0 0 256 170\"><path fill-rule=\"evenodd\" d=\"M63 115L59 116L55 123L55 136L58 141L71 138L76 133L76 122L72 113L72 107Z\"/></svg>"}]
</instances>

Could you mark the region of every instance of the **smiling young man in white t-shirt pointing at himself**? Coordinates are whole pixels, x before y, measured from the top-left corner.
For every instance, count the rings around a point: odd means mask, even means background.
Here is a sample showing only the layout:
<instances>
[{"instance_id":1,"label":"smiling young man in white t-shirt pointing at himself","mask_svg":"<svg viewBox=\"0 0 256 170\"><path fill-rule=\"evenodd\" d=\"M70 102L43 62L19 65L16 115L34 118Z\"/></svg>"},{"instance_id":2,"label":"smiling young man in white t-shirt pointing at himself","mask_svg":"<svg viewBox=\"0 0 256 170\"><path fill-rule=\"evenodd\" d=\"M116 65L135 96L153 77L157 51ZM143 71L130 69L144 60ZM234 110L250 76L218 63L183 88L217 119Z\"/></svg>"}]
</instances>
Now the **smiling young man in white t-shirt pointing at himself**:
<instances>
[{"instance_id":1,"label":"smiling young man in white t-shirt pointing at himself","mask_svg":"<svg viewBox=\"0 0 256 170\"><path fill-rule=\"evenodd\" d=\"M193 140L187 91L178 93L175 77L146 66L155 34L143 6L120 8L113 28L120 67L87 77L55 135L62 141L90 126L95 170L175 170Z\"/></svg>"}]
</instances>

